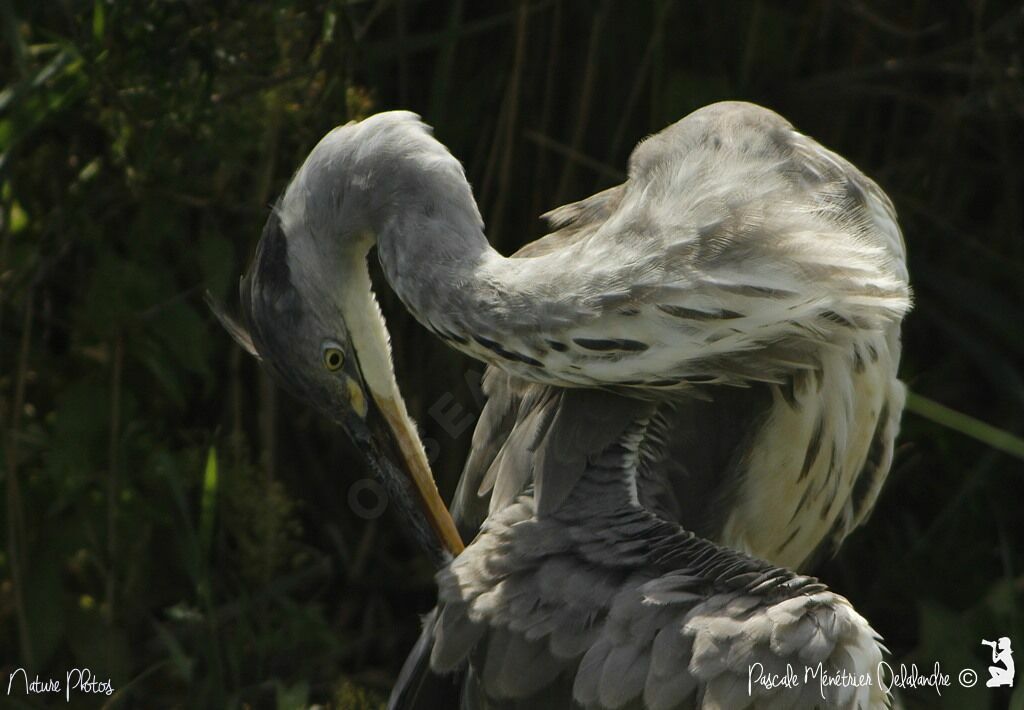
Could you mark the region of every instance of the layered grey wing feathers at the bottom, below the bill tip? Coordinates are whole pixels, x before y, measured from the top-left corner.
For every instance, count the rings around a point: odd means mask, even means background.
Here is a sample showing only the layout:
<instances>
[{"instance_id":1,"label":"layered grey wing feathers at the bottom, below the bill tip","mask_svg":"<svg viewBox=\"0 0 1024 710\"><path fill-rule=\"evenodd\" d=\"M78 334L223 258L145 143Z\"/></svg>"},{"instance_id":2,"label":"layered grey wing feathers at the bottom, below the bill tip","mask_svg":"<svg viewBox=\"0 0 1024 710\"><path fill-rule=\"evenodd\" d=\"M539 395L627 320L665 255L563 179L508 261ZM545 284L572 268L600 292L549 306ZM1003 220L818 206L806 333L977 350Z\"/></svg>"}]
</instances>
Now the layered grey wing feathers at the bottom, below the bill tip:
<instances>
[{"instance_id":1,"label":"layered grey wing feathers at the bottom, below the bill tip","mask_svg":"<svg viewBox=\"0 0 1024 710\"><path fill-rule=\"evenodd\" d=\"M486 708L532 707L552 683L571 684L561 707L569 698L573 707L609 709L884 705L877 686L825 687L823 698L813 682L748 694L758 663L770 672L820 663L829 674L873 674L878 637L816 580L642 506L635 472L645 447L657 446L646 438L654 405L626 401L609 417L615 396L561 390L559 414L588 430L560 431L559 441L569 458L592 452L564 506L541 515L527 492L439 573L439 612L428 628L434 669L470 664L469 695Z\"/></svg>"}]
</instances>

